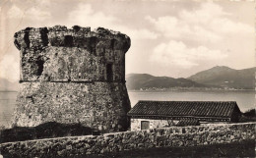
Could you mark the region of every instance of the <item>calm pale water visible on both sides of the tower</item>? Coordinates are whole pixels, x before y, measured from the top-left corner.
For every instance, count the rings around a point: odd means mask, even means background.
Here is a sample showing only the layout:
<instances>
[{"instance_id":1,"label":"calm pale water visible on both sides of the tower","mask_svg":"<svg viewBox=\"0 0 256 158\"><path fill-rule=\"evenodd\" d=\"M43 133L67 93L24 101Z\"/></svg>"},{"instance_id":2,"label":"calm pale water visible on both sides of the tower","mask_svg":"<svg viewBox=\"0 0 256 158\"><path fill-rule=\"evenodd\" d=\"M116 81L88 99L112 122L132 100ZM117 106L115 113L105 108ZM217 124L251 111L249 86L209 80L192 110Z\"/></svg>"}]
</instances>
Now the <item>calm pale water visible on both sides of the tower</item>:
<instances>
[{"instance_id":1,"label":"calm pale water visible on both sides of the tower","mask_svg":"<svg viewBox=\"0 0 256 158\"><path fill-rule=\"evenodd\" d=\"M129 91L132 107L138 100L236 101L242 112L255 108L255 91ZM0 126L7 125L14 111L17 92L0 92Z\"/></svg>"}]
</instances>

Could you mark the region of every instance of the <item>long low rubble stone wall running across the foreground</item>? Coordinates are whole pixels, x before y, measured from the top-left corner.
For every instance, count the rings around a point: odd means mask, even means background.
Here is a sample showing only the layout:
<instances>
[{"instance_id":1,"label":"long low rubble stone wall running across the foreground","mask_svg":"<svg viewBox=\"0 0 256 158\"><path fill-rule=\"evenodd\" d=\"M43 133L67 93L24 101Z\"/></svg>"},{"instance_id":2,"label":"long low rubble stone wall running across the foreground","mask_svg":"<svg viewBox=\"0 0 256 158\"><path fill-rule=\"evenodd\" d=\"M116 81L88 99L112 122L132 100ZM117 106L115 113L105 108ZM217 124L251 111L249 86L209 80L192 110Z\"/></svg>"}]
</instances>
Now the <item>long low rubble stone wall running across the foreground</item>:
<instances>
[{"instance_id":1,"label":"long low rubble stone wall running across the foreground","mask_svg":"<svg viewBox=\"0 0 256 158\"><path fill-rule=\"evenodd\" d=\"M255 139L256 123L173 127L139 132L115 132L0 144L1 154L13 157L68 157L105 154L164 146L195 146Z\"/></svg>"}]
</instances>

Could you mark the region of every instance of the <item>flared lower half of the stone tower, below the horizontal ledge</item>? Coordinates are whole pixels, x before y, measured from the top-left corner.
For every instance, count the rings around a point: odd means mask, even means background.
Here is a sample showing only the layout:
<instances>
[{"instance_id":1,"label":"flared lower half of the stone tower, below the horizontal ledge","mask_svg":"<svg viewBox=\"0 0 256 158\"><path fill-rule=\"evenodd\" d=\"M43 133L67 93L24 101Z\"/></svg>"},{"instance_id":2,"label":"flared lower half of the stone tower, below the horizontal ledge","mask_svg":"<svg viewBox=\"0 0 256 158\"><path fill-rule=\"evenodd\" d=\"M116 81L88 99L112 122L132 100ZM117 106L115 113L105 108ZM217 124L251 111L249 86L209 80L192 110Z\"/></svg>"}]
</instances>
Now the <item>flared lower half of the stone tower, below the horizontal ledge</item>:
<instances>
[{"instance_id":1,"label":"flared lower half of the stone tower, below the horizontal ledge","mask_svg":"<svg viewBox=\"0 0 256 158\"><path fill-rule=\"evenodd\" d=\"M120 127L126 125L129 110L123 83L24 82L21 89L17 125L34 127L54 121L81 123L104 132L127 128Z\"/></svg>"}]
</instances>

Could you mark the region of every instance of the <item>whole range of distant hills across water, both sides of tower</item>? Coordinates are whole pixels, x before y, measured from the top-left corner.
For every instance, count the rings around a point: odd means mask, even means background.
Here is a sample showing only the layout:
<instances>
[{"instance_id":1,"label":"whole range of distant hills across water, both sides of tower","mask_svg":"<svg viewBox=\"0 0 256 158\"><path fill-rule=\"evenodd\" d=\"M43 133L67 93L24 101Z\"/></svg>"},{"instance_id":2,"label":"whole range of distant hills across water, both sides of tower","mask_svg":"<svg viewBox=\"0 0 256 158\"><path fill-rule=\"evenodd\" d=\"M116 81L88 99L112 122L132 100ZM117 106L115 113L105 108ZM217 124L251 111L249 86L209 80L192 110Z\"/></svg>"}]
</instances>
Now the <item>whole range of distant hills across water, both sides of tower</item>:
<instances>
[{"instance_id":1,"label":"whole range of distant hills across water, both sides of tower","mask_svg":"<svg viewBox=\"0 0 256 158\"><path fill-rule=\"evenodd\" d=\"M171 88L171 87L223 87L235 89L255 88L256 67L235 70L224 66L217 66L199 72L187 79L170 77L154 77L149 74L128 74L126 85L128 89L141 88ZM0 91L17 91L18 81L9 81L0 78Z\"/></svg>"}]
</instances>

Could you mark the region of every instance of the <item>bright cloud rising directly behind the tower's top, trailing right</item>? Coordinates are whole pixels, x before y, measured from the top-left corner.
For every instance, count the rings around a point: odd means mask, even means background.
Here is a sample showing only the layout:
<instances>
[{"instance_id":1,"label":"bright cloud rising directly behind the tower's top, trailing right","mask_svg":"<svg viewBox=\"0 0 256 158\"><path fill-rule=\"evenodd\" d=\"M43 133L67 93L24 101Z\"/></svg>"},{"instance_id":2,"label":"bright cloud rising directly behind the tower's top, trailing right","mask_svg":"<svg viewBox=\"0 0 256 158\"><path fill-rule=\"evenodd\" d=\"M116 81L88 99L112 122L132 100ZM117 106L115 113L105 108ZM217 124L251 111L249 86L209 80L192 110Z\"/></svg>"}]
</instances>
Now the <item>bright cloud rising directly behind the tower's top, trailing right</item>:
<instances>
[{"instance_id":1,"label":"bright cloud rising directly behind the tower's top, trailing right","mask_svg":"<svg viewBox=\"0 0 256 158\"><path fill-rule=\"evenodd\" d=\"M112 15L105 15L102 12L96 12L90 4L81 3L73 11L68 13L68 22L70 26L92 26L96 28L103 26L129 34L133 39L156 39L159 34L150 31L147 28L130 28L122 25L121 20Z\"/></svg>"}]
</instances>

